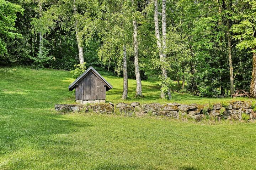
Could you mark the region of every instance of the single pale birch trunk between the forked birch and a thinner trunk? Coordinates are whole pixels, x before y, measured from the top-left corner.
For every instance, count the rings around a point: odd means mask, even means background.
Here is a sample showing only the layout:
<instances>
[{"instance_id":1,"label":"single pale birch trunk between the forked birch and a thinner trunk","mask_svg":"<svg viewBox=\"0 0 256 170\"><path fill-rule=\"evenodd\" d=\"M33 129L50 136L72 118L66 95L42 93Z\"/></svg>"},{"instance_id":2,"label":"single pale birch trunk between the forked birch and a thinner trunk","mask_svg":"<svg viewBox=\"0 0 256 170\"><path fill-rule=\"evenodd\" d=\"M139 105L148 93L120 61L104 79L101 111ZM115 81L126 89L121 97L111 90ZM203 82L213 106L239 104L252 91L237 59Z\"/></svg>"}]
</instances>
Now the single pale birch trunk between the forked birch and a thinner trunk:
<instances>
[{"instance_id":1,"label":"single pale birch trunk between the forked birch and a thinner trunk","mask_svg":"<svg viewBox=\"0 0 256 170\"><path fill-rule=\"evenodd\" d=\"M139 49L138 49L138 41L137 41L137 21L133 21L133 42L134 42L134 67L135 67L135 77L136 77L136 97L142 96L142 85L139 73Z\"/></svg>"}]
</instances>

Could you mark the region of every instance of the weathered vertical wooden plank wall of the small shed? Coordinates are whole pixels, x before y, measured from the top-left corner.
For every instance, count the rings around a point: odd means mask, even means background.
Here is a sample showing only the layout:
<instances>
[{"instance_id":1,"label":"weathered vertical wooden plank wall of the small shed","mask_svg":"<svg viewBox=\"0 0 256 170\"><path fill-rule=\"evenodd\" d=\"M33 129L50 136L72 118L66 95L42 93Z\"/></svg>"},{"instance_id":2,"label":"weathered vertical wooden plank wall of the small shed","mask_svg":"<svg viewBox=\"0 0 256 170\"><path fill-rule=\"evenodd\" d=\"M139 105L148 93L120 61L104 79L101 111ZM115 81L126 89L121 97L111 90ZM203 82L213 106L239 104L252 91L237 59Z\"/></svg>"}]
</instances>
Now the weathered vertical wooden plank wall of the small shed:
<instances>
[{"instance_id":1,"label":"weathered vertical wooden plank wall of the small shed","mask_svg":"<svg viewBox=\"0 0 256 170\"><path fill-rule=\"evenodd\" d=\"M76 86L76 100L105 100L106 85L92 72Z\"/></svg>"}]
</instances>

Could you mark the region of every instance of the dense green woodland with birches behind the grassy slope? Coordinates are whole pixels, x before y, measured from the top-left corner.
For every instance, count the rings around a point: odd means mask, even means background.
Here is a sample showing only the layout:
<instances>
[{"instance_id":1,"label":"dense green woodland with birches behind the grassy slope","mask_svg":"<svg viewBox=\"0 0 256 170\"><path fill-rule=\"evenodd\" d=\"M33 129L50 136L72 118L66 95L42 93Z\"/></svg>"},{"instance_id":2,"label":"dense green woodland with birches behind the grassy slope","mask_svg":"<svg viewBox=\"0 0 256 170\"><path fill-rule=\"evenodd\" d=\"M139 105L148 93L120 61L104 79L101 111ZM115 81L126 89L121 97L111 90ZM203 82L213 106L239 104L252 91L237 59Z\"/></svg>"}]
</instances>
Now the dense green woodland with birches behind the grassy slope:
<instances>
[{"instance_id":1,"label":"dense green woodland with birches behind the grassy slope","mask_svg":"<svg viewBox=\"0 0 256 170\"><path fill-rule=\"evenodd\" d=\"M147 77L161 98L256 97L255 30L256 0L0 0L0 63L106 69L123 76L124 99L127 78L141 97Z\"/></svg>"}]
</instances>

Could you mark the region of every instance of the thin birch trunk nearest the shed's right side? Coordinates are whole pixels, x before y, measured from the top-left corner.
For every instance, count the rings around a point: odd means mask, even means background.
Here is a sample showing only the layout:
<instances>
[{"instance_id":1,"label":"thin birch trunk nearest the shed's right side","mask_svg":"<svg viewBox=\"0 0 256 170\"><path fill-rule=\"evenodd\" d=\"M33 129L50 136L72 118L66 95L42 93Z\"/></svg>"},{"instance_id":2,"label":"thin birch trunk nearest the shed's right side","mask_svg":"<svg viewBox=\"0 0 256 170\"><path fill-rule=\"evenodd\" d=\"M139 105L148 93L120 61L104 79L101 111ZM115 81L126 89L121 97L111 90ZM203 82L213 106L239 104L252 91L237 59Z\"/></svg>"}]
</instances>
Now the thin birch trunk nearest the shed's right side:
<instances>
[{"instance_id":1,"label":"thin birch trunk nearest the shed's right side","mask_svg":"<svg viewBox=\"0 0 256 170\"><path fill-rule=\"evenodd\" d=\"M127 75L127 56L126 56L126 46L123 46L123 95L122 99L127 99L128 94L128 75Z\"/></svg>"}]
</instances>

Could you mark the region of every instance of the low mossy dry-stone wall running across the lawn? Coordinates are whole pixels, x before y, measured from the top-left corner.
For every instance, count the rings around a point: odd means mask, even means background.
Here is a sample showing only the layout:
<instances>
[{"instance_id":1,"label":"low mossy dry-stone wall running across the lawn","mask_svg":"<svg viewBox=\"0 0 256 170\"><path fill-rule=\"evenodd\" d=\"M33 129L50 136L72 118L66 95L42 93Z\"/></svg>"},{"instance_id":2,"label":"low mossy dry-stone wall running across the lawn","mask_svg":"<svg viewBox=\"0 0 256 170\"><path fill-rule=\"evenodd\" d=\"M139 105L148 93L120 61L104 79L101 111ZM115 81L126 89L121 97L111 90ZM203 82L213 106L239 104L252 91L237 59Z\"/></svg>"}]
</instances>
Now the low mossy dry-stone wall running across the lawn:
<instances>
[{"instance_id":1,"label":"low mossy dry-stone wall running across the lawn","mask_svg":"<svg viewBox=\"0 0 256 170\"><path fill-rule=\"evenodd\" d=\"M150 103L139 102L127 103L100 103L100 104L57 104L56 111L83 111L112 114L114 112L124 113L128 116L137 115L163 115L175 119L193 118L201 120L203 117L214 117L217 120L253 120L256 114L252 110L251 102L232 101L228 104L216 103L213 105L180 104L180 103Z\"/></svg>"}]
</instances>

